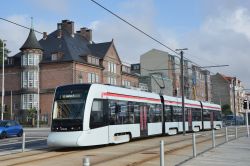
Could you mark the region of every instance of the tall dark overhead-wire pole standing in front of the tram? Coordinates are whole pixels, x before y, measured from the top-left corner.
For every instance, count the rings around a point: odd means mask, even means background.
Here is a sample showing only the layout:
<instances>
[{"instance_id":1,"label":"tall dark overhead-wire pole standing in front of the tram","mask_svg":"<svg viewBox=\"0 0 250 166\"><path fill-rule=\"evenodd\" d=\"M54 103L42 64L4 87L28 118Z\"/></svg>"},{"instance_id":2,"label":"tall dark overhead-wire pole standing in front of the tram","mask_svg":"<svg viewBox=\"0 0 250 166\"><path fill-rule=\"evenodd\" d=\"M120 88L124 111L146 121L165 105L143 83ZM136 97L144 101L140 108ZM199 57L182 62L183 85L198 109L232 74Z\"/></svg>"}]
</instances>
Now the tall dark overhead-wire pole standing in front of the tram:
<instances>
[{"instance_id":1,"label":"tall dark overhead-wire pole standing in front of the tram","mask_svg":"<svg viewBox=\"0 0 250 166\"><path fill-rule=\"evenodd\" d=\"M186 117L185 117L185 99L184 99L184 73L183 73L183 50L187 50L187 48L183 49L176 49L176 51L180 51L181 55L181 109L182 109L182 128L183 128L183 135L186 134L186 127L185 127L185 122L186 122Z\"/></svg>"}]
</instances>

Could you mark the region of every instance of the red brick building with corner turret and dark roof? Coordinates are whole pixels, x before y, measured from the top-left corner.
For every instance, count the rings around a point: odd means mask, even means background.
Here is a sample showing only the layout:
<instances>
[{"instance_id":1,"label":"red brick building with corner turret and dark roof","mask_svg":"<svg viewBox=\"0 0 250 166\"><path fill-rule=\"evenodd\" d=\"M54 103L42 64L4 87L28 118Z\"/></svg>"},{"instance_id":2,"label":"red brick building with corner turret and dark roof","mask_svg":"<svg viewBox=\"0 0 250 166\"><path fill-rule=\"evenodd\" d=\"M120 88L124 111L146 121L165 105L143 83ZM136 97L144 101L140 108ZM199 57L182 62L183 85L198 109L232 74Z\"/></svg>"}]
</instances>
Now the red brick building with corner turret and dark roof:
<instances>
[{"instance_id":1,"label":"red brick building with corner turret and dark roof","mask_svg":"<svg viewBox=\"0 0 250 166\"><path fill-rule=\"evenodd\" d=\"M27 110L40 110L48 121L57 86L102 83L138 87L138 76L123 65L114 41L95 43L92 30L74 30L74 22L62 20L57 29L37 41L31 28L18 54L5 62L5 104L13 118ZM2 79L2 78L1 78ZM0 84L1 85L1 84Z\"/></svg>"}]
</instances>

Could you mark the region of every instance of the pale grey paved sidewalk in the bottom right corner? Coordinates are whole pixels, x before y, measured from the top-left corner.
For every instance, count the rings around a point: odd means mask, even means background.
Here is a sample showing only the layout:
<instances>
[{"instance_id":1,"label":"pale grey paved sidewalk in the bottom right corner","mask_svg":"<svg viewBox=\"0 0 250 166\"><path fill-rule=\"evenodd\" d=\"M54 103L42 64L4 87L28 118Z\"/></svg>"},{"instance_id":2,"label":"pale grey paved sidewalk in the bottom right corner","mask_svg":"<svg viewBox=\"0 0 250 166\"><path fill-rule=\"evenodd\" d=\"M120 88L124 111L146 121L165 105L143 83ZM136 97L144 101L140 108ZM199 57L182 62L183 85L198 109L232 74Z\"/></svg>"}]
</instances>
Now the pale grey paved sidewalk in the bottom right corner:
<instances>
[{"instance_id":1,"label":"pale grey paved sidewalk in the bottom right corner","mask_svg":"<svg viewBox=\"0 0 250 166\"><path fill-rule=\"evenodd\" d=\"M250 138L241 137L197 156L184 166L245 166L250 165Z\"/></svg>"}]
</instances>

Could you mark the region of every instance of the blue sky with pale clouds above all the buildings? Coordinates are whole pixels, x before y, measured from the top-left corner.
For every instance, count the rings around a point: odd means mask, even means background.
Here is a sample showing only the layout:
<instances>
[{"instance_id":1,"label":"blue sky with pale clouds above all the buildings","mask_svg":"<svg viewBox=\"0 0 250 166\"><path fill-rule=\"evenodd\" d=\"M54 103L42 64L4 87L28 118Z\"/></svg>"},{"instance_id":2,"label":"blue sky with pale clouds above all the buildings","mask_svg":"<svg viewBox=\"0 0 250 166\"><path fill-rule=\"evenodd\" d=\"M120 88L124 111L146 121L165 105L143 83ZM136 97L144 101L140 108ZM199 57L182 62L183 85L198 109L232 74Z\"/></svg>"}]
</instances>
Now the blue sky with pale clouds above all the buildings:
<instances>
[{"instance_id":1,"label":"blue sky with pale clouds above all the buildings","mask_svg":"<svg viewBox=\"0 0 250 166\"><path fill-rule=\"evenodd\" d=\"M247 0L96 0L172 49L188 48L184 56L200 66L236 76L250 88L250 1ZM122 61L138 63L153 49L174 54L134 30L90 0L8 0L1 2L0 16L51 33L58 22L69 19L75 30L93 29L95 42L114 39ZM28 30L0 20L0 38L14 55ZM41 35L37 34L40 39Z\"/></svg>"}]
</instances>

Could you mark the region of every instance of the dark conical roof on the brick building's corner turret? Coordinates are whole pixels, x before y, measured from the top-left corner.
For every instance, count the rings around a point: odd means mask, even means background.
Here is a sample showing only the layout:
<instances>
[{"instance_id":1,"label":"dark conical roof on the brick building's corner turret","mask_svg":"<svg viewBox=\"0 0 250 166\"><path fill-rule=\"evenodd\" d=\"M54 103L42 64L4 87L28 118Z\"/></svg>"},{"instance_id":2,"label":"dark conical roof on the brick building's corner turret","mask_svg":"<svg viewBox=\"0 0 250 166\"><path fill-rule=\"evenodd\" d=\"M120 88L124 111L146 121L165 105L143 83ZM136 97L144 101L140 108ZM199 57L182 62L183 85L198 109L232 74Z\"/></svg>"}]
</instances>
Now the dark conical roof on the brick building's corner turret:
<instances>
[{"instance_id":1,"label":"dark conical roof on the brick building's corner turret","mask_svg":"<svg viewBox=\"0 0 250 166\"><path fill-rule=\"evenodd\" d=\"M41 45L39 44L39 42L36 39L36 35L35 35L33 29L30 29L30 33L29 33L27 40L24 42L23 46L20 48L20 50L24 50L24 49L43 50L43 48L41 47Z\"/></svg>"}]
</instances>

